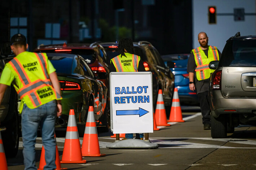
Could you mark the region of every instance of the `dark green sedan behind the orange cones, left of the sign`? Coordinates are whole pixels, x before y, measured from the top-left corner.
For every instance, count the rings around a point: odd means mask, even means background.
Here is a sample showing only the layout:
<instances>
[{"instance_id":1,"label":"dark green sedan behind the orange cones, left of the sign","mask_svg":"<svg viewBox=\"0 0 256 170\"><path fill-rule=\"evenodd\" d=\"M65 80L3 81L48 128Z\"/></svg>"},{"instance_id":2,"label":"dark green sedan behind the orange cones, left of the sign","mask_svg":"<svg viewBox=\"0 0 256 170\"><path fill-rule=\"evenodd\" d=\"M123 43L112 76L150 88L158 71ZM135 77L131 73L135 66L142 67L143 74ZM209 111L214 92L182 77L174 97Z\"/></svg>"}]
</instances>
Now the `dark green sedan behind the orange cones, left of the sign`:
<instances>
[{"instance_id":1,"label":"dark green sedan behind the orange cones, left of the sign","mask_svg":"<svg viewBox=\"0 0 256 170\"><path fill-rule=\"evenodd\" d=\"M70 109L74 109L78 133L82 137L89 106L94 106L97 126L108 129L108 89L99 79L106 79L107 73L98 73L95 77L91 68L80 55L47 53L58 75L61 85L62 115L56 124L66 127Z\"/></svg>"}]
</instances>

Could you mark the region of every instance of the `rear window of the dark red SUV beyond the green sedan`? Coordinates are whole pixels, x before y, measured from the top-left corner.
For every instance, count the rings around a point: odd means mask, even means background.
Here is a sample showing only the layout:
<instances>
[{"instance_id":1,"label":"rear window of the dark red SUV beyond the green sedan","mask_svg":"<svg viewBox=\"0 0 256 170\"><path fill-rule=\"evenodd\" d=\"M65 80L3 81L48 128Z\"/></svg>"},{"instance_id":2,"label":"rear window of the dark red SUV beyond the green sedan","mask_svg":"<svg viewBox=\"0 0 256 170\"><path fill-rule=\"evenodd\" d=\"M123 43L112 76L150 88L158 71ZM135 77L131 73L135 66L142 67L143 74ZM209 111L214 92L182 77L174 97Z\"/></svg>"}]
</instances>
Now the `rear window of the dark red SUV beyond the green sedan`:
<instances>
[{"instance_id":1,"label":"rear window of the dark red SUV beyond the green sedan","mask_svg":"<svg viewBox=\"0 0 256 170\"><path fill-rule=\"evenodd\" d=\"M84 60L88 63L94 63L96 60L96 54L94 50L91 49L63 49L59 50L40 50L42 53L68 53L68 54L77 54L81 55Z\"/></svg>"}]
</instances>

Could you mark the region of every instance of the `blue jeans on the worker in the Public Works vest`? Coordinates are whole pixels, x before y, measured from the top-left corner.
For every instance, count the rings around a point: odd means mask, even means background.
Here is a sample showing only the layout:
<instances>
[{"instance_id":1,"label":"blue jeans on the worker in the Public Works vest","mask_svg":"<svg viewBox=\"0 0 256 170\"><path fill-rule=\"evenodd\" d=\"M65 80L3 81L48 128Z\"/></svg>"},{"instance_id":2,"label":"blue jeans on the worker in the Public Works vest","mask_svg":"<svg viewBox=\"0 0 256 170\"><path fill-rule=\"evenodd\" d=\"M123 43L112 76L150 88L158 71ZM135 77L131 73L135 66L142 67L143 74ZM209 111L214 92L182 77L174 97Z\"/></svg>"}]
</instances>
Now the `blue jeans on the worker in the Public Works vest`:
<instances>
[{"instance_id":1,"label":"blue jeans on the worker in the Public Works vest","mask_svg":"<svg viewBox=\"0 0 256 170\"><path fill-rule=\"evenodd\" d=\"M54 139L56 109L56 100L34 109L30 109L24 104L21 114L21 128L25 170L37 170L35 166L35 142L39 125L45 149L46 165L44 170L56 168L56 141Z\"/></svg>"}]
</instances>

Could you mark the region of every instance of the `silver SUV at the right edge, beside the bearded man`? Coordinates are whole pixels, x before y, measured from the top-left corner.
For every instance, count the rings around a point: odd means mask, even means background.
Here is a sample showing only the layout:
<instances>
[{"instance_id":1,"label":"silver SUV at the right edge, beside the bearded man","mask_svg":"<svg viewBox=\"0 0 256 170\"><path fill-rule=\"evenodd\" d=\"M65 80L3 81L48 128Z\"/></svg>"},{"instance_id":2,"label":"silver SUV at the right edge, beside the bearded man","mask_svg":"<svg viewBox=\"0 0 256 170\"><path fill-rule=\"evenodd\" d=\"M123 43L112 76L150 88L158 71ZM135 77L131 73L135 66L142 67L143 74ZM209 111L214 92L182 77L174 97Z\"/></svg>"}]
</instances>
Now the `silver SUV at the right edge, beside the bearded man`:
<instances>
[{"instance_id":1,"label":"silver SUV at the right edge, beside the bearded man","mask_svg":"<svg viewBox=\"0 0 256 170\"><path fill-rule=\"evenodd\" d=\"M210 81L212 138L226 138L234 127L256 125L256 36L227 40L220 62L210 62L216 69Z\"/></svg>"}]
</instances>

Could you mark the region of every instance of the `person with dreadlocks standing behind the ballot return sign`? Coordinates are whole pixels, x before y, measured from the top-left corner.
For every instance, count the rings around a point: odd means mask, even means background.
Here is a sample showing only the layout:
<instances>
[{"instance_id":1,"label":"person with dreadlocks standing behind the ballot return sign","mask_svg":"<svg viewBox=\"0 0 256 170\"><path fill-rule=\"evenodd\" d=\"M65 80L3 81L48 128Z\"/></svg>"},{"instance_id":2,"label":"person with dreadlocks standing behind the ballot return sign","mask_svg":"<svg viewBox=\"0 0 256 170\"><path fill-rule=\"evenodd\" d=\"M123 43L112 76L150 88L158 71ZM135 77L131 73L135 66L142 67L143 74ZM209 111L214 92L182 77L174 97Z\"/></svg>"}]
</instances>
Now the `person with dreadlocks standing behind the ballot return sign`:
<instances>
[{"instance_id":1,"label":"person with dreadlocks standing behind the ballot return sign","mask_svg":"<svg viewBox=\"0 0 256 170\"><path fill-rule=\"evenodd\" d=\"M140 56L134 54L134 46L131 39L121 39L117 49L120 55L110 60L110 72L145 71L143 63L140 62ZM123 139L133 139L133 134L127 133ZM136 133L135 139L143 140L143 133Z\"/></svg>"}]
</instances>

